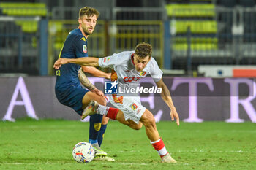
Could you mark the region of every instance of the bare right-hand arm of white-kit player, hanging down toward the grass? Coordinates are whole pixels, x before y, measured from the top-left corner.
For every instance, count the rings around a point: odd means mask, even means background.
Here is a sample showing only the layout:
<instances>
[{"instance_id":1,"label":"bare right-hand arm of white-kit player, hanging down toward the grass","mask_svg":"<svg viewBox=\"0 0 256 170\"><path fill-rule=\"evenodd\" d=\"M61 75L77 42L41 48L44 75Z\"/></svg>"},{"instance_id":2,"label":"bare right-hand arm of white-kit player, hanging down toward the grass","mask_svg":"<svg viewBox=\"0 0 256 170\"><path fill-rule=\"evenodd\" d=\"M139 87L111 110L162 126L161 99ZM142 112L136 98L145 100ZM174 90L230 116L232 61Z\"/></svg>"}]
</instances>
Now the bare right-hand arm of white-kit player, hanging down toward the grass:
<instances>
[{"instance_id":1,"label":"bare right-hand arm of white-kit player, hanging down toward the grass","mask_svg":"<svg viewBox=\"0 0 256 170\"><path fill-rule=\"evenodd\" d=\"M159 82L156 82L158 88L162 88L162 99L165 101L165 103L170 107L170 117L172 120L174 118L176 119L177 125L179 125L179 117L178 112L176 111L176 108L174 107L173 100L170 96L170 91L165 85L165 82L162 81L162 79Z\"/></svg>"}]
</instances>

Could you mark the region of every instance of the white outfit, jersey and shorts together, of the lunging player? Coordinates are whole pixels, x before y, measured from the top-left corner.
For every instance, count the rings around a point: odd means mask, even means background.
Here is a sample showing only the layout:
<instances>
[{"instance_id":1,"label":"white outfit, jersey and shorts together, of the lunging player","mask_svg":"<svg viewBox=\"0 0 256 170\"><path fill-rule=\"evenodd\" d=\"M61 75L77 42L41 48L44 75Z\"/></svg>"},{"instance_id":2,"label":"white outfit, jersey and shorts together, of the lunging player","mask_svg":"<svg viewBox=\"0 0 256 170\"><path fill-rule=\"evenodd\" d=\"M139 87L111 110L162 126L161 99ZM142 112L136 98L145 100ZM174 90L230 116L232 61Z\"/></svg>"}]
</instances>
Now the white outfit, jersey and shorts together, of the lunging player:
<instances>
[{"instance_id":1,"label":"white outfit, jersey and shorts together, of the lunging player","mask_svg":"<svg viewBox=\"0 0 256 170\"><path fill-rule=\"evenodd\" d=\"M125 51L111 56L100 58L99 66L111 67L115 72L111 74L111 80L118 81L118 87L138 87L139 80L146 75L150 74L155 82L159 82L162 78L162 70L159 69L157 61L151 57L150 61L143 69L142 72L137 72L133 62L133 55L135 51ZM110 97L110 103L114 107L120 109L124 113L125 120L133 120L135 123L139 123L140 117L146 111L146 107L140 102L140 96L138 93L134 95L114 95Z\"/></svg>"}]
</instances>

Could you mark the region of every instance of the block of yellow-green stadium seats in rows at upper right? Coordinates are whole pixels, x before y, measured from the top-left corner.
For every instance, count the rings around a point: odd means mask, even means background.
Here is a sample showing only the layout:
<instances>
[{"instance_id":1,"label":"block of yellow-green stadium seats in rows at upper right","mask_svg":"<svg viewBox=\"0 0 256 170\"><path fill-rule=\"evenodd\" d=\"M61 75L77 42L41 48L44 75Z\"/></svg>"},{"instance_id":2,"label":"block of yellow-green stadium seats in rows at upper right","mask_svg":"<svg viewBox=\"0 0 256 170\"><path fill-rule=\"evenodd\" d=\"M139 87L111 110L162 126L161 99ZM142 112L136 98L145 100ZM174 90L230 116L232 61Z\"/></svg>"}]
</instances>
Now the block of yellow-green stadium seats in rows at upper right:
<instances>
[{"instance_id":1,"label":"block of yellow-green stadium seats in rows at upper right","mask_svg":"<svg viewBox=\"0 0 256 170\"><path fill-rule=\"evenodd\" d=\"M167 15L171 20L171 29L175 28L173 50L187 50L187 31L190 28L191 50L217 50L217 38L211 38L217 33L215 5L167 4Z\"/></svg>"}]
</instances>

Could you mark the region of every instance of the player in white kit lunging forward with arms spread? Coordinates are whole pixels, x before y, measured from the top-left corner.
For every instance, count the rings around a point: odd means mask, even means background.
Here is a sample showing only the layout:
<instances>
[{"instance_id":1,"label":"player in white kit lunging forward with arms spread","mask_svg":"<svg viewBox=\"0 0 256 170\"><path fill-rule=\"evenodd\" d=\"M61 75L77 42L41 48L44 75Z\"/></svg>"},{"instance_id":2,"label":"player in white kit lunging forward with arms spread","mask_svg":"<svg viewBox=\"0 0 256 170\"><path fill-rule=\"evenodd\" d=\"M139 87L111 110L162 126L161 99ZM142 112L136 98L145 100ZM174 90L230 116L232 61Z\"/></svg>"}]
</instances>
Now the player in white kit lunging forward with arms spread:
<instances>
[{"instance_id":1,"label":"player in white kit lunging forward with arms spread","mask_svg":"<svg viewBox=\"0 0 256 170\"><path fill-rule=\"evenodd\" d=\"M113 54L105 58L76 58L67 59L59 58L54 63L54 68L59 69L61 64L78 63L82 66L100 66L111 67L113 72L111 74L111 81L118 82L118 85L124 87L135 87L139 80L150 74L158 88L162 88L162 99L170 107L170 116L179 125L178 113L173 105L170 91L162 80L162 71L157 65L157 61L151 57L151 45L143 42L136 46L135 51L125 51L118 54ZM140 129L142 125L146 128L146 135L150 139L154 149L159 153L162 162L176 163L165 148L165 144L159 136L157 126L154 120L154 115L143 107L140 103L140 96L121 96L113 94L110 97L110 102L114 107L105 107L98 104L96 101L91 101L89 107L84 110L82 118L95 113L105 115L113 120L118 120L124 125L128 125L133 129Z\"/></svg>"}]
</instances>

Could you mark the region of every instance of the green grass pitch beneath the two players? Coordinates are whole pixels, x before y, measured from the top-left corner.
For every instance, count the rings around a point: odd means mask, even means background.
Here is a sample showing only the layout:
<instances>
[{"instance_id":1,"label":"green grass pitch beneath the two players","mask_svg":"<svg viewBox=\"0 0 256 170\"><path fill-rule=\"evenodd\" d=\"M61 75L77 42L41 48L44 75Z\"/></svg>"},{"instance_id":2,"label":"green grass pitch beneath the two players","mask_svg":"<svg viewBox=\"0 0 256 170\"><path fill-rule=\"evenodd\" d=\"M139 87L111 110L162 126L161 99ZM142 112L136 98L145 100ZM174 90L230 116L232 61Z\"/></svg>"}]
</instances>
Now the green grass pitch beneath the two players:
<instances>
[{"instance_id":1,"label":"green grass pitch beneath the two players","mask_svg":"<svg viewBox=\"0 0 256 170\"><path fill-rule=\"evenodd\" d=\"M0 169L256 169L255 123L157 123L178 161L161 163L145 129L110 121L102 149L115 162L77 163L72 147L88 141L89 123L67 120L0 122Z\"/></svg>"}]
</instances>

